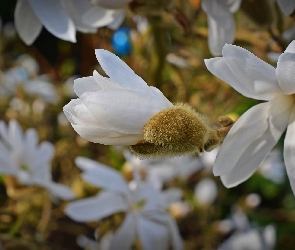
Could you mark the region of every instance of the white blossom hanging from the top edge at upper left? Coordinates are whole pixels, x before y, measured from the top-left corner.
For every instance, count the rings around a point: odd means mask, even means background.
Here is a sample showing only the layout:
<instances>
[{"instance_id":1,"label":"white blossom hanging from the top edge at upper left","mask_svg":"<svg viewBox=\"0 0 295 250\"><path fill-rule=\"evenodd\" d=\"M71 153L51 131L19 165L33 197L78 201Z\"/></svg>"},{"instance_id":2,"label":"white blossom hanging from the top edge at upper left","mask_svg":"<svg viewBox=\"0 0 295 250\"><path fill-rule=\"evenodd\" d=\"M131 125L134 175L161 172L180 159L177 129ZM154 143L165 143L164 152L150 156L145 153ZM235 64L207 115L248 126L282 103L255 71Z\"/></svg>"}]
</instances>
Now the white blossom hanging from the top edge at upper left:
<instances>
[{"instance_id":1,"label":"white blossom hanging from the top edge at upper left","mask_svg":"<svg viewBox=\"0 0 295 250\"><path fill-rule=\"evenodd\" d=\"M94 33L98 27L121 24L122 16L121 11L93 6L88 0L18 0L14 12L16 30L27 45L42 26L60 39L76 42L76 30Z\"/></svg>"}]
</instances>

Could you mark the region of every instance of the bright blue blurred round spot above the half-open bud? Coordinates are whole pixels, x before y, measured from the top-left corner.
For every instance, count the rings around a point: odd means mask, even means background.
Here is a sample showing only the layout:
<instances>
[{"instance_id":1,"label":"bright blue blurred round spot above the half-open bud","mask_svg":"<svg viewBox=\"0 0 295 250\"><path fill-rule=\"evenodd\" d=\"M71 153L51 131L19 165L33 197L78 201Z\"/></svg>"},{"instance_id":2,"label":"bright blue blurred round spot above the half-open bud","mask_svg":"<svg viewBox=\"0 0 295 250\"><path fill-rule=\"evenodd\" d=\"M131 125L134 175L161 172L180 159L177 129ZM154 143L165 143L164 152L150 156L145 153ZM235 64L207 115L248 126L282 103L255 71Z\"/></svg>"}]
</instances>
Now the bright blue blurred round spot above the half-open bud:
<instances>
[{"instance_id":1,"label":"bright blue blurred round spot above the half-open bud","mask_svg":"<svg viewBox=\"0 0 295 250\"><path fill-rule=\"evenodd\" d=\"M131 53L130 29L121 27L112 36L112 46L118 56L127 56Z\"/></svg>"}]
</instances>

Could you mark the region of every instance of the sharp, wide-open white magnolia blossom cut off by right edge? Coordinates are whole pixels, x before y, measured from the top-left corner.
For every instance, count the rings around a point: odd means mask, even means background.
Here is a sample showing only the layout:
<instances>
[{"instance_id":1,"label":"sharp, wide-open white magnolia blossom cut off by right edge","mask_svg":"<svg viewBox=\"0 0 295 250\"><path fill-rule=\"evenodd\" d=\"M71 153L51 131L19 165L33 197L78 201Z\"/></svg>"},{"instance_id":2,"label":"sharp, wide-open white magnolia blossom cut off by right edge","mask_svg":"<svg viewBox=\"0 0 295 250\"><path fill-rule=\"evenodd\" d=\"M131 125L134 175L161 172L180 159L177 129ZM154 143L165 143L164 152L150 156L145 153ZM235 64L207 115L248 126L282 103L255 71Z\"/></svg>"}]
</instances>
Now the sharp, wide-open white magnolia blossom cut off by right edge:
<instances>
[{"instance_id":1,"label":"sharp, wide-open white magnolia blossom cut off by right edge","mask_svg":"<svg viewBox=\"0 0 295 250\"><path fill-rule=\"evenodd\" d=\"M213 173L226 187L245 181L287 128L284 161L295 193L295 41L280 55L276 69L237 46L225 45L222 55L205 60L209 71L244 96L267 102L236 121L220 147Z\"/></svg>"}]
</instances>

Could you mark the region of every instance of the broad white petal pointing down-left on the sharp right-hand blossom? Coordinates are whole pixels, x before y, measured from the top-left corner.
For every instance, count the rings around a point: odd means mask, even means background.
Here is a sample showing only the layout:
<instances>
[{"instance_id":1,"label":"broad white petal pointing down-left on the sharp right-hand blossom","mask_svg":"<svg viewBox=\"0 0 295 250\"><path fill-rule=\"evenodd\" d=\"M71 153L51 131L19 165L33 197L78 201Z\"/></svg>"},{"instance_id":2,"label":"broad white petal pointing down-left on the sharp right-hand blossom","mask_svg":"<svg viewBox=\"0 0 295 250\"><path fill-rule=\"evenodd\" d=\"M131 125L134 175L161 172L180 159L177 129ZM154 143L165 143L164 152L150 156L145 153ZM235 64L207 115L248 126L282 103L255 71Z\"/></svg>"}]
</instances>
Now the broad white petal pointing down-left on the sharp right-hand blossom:
<instances>
[{"instance_id":1,"label":"broad white petal pointing down-left on the sharp right-hand blossom","mask_svg":"<svg viewBox=\"0 0 295 250\"><path fill-rule=\"evenodd\" d=\"M292 97L278 95L271 102L258 104L243 114L220 147L213 166L214 175L228 174L230 177L223 177L227 186L245 175L248 178L286 129L292 103Z\"/></svg>"}]
</instances>

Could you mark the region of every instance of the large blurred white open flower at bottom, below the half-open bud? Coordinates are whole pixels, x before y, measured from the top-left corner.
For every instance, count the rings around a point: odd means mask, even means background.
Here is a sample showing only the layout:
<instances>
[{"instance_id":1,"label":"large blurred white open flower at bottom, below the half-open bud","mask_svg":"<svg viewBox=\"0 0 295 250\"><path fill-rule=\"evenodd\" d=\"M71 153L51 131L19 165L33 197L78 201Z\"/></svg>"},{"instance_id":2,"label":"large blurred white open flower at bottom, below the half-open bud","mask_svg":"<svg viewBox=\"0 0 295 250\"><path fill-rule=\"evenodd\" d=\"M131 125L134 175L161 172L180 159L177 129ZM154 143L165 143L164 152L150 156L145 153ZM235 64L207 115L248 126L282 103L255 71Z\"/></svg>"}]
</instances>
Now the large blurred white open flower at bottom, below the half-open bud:
<instances>
[{"instance_id":1,"label":"large blurred white open flower at bottom, below the half-open bud","mask_svg":"<svg viewBox=\"0 0 295 250\"><path fill-rule=\"evenodd\" d=\"M96 196L71 202L65 212L79 222L101 220L117 212L125 212L125 219L114 233L110 249L131 249L139 237L143 249L182 249L182 240L175 221L165 212L164 202L149 183L128 186L116 170L78 157L77 166L82 178L103 191ZM171 199L168 199L171 200Z\"/></svg>"}]
</instances>

